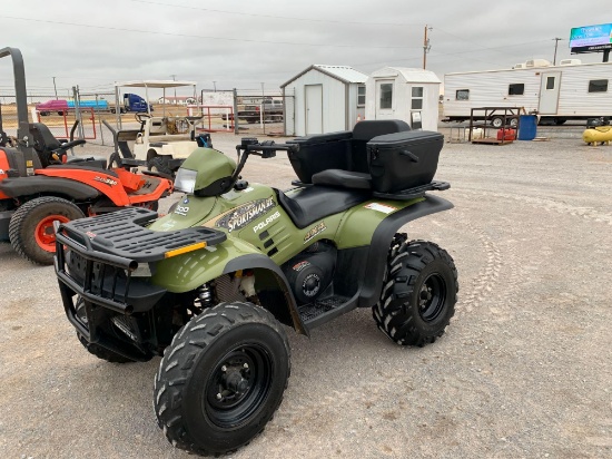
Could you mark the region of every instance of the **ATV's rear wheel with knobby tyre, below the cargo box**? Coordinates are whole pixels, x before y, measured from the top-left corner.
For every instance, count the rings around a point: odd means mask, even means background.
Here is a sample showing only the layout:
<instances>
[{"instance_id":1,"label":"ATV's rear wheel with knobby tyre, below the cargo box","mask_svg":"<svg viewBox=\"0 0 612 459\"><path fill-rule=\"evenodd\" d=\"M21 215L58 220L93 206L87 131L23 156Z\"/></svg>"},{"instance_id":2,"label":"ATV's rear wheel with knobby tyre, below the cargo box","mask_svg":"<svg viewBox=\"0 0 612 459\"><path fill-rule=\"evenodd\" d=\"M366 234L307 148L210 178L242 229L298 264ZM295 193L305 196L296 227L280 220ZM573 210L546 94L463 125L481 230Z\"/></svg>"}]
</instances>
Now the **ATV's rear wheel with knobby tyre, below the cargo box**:
<instances>
[{"instance_id":1,"label":"ATV's rear wheel with knobby tyre, below the cargo box","mask_svg":"<svg viewBox=\"0 0 612 459\"><path fill-rule=\"evenodd\" d=\"M374 320L392 341L423 346L442 336L455 313L458 283L453 258L436 244L396 235Z\"/></svg>"}]
</instances>

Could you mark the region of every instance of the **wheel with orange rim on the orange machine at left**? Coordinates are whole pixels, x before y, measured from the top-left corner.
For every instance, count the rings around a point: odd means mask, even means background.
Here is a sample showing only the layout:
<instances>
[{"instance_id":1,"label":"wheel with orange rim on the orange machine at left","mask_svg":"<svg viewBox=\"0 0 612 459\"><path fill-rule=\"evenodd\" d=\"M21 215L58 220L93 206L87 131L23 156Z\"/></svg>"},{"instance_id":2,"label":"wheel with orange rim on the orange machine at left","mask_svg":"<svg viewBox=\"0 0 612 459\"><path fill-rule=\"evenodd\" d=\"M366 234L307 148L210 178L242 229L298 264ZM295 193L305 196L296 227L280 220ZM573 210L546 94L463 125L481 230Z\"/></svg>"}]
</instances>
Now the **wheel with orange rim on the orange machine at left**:
<instances>
[{"instance_id":1,"label":"wheel with orange rim on the orange machine at left","mask_svg":"<svg viewBox=\"0 0 612 459\"><path fill-rule=\"evenodd\" d=\"M9 223L14 251L37 264L53 264L56 234L53 222L70 222L85 214L70 201L56 196L37 197L20 206Z\"/></svg>"}]
</instances>

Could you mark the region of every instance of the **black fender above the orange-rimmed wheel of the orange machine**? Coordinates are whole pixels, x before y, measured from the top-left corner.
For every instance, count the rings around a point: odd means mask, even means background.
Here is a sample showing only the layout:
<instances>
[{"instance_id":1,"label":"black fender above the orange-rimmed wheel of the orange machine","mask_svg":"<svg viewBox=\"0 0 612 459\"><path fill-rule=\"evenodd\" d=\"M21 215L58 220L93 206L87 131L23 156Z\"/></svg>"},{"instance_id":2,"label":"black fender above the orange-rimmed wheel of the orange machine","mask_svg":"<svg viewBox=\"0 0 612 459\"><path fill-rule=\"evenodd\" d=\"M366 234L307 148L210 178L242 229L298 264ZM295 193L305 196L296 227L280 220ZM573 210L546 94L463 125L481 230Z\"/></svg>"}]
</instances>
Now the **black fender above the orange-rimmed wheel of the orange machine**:
<instances>
[{"instance_id":1,"label":"black fender above the orange-rimmed wheel of the orange machine","mask_svg":"<svg viewBox=\"0 0 612 459\"><path fill-rule=\"evenodd\" d=\"M47 176L4 178L0 187L2 193L10 197L53 195L67 196L70 201L88 201L100 196L100 193L89 185Z\"/></svg>"}]
</instances>

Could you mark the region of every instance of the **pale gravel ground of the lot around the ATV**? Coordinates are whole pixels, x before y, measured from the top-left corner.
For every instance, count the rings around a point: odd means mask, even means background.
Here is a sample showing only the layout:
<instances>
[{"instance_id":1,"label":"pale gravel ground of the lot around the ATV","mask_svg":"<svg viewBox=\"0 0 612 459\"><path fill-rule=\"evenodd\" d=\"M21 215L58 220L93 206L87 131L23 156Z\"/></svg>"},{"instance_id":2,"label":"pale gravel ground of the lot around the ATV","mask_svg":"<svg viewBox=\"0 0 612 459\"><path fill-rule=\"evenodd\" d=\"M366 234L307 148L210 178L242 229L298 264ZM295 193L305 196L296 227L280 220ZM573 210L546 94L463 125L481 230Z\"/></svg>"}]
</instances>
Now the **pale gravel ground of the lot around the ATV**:
<instances>
[{"instance_id":1,"label":"pale gravel ground of the lot around the ATV","mask_svg":"<svg viewBox=\"0 0 612 459\"><path fill-rule=\"evenodd\" d=\"M236 144L213 138L227 153ZM294 174L279 154L253 158L243 176L287 187ZM285 400L233 457L612 456L612 147L446 144L436 178L452 183L443 196L455 208L405 231L456 262L447 333L403 349L369 310L309 340L287 329ZM151 410L159 359L118 365L87 353L52 267L8 244L0 279L0 457L188 457Z\"/></svg>"}]
</instances>

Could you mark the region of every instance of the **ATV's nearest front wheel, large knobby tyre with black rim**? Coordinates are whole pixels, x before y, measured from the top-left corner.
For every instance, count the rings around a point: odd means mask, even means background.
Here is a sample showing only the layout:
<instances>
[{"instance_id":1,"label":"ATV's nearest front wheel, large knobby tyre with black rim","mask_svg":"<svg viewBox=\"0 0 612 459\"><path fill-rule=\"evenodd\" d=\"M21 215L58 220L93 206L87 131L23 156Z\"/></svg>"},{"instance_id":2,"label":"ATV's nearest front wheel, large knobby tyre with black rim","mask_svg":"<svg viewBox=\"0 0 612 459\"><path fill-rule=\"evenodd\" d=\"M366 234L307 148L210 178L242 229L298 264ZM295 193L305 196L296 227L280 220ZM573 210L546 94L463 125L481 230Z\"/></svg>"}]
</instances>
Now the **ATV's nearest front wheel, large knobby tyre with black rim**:
<instances>
[{"instance_id":1,"label":"ATV's nearest front wheel, large knobby tyre with black rim","mask_svg":"<svg viewBox=\"0 0 612 459\"><path fill-rule=\"evenodd\" d=\"M177 448L231 452L264 430L290 373L282 325L251 303L193 318L166 349L155 379L158 424Z\"/></svg>"}]
</instances>

